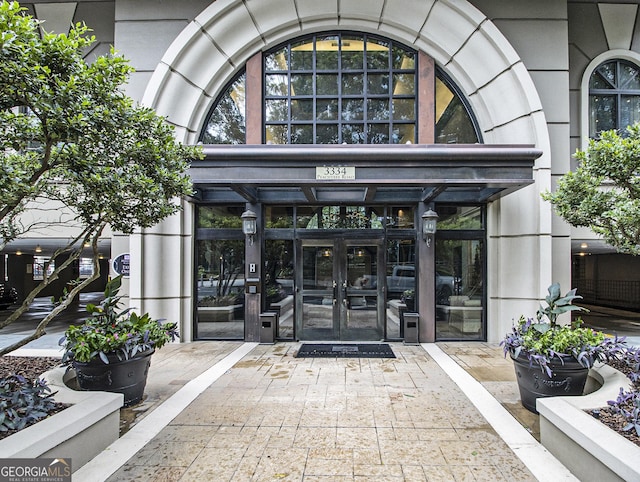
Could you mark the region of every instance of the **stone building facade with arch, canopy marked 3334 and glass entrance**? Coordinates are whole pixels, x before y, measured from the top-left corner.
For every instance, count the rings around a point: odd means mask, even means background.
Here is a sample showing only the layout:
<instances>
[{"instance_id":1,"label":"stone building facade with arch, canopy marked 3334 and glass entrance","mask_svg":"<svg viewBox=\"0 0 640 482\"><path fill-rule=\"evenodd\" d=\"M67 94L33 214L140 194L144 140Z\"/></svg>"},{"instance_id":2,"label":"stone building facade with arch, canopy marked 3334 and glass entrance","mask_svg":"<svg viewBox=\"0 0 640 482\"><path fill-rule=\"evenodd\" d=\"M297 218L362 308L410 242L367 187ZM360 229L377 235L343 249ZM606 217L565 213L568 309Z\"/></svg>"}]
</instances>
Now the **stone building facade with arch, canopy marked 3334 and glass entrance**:
<instances>
[{"instance_id":1,"label":"stone building facade with arch, canopy marked 3334 and glass entrance","mask_svg":"<svg viewBox=\"0 0 640 482\"><path fill-rule=\"evenodd\" d=\"M498 341L572 266L598 290L611 250L541 194L640 120L637 2L25 6L94 28L87 58L115 45L127 93L204 146L179 215L110 239L183 341L260 341L267 313L277 339L401 340L406 312L423 342Z\"/></svg>"}]
</instances>

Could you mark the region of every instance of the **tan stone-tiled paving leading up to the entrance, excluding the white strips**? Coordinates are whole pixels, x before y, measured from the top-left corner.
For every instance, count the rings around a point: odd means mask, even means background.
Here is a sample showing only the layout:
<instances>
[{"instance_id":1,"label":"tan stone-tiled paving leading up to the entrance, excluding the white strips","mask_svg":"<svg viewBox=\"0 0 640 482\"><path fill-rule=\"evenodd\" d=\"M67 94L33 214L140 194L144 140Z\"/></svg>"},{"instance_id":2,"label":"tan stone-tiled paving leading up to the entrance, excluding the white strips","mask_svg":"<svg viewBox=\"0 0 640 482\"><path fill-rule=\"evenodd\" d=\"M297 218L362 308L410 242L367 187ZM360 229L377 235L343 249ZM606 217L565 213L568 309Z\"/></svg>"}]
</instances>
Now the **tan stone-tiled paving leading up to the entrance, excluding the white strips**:
<instances>
[{"instance_id":1,"label":"tan stone-tiled paving leading up to the entrance, excluding the white strips","mask_svg":"<svg viewBox=\"0 0 640 482\"><path fill-rule=\"evenodd\" d=\"M234 346L181 345L187 369L161 350L145 403ZM490 390L515 386L494 380L502 363L513 372L496 346L440 346ZM298 347L258 345L108 480L536 480L422 347L392 344L395 359L295 358Z\"/></svg>"}]
</instances>

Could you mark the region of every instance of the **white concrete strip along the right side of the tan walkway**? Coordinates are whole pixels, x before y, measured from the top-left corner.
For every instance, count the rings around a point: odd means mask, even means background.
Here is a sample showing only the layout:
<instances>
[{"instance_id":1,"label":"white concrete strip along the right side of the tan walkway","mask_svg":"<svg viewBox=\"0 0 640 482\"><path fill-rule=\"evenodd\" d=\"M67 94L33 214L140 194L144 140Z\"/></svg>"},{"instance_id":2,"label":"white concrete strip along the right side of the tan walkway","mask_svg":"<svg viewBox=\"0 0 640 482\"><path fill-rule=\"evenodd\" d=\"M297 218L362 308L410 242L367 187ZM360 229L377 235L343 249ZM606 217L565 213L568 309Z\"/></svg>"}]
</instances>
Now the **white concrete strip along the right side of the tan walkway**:
<instances>
[{"instance_id":1,"label":"white concrete strip along the right side of the tan walkway","mask_svg":"<svg viewBox=\"0 0 640 482\"><path fill-rule=\"evenodd\" d=\"M496 433L538 480L578 480L545 449L480 382L469 375L434 343L422 347L471 400Z\"/></svg>"}]
</instances>

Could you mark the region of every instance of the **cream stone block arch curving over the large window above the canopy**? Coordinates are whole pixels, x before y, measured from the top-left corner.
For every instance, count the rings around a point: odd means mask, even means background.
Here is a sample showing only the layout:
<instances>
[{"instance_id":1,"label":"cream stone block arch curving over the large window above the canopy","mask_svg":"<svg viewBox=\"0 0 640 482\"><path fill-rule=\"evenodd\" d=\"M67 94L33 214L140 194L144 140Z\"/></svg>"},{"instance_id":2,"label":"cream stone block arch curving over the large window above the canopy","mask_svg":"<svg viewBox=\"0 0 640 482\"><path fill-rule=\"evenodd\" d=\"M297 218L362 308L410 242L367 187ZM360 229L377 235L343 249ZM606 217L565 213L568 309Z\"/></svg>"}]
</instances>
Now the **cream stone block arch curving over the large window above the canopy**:
<instances>
[{"instance_id":1,"label":"cream stone block arch curving over the large window above the canopy","mask_svg":"<svg viewBox=\"0 0 640 482\"><path fill-rule=\"evenodd\" d=\"M532 143L548 152L529 73L496 26L465 1L378 0L363 9L358 0L218 0L166 51L143 103L167 116L179 140L195 143L214 98L251 55L303 33L336 28L376 33L424 51L467 96L487 143Z\"/></svg>"}]
</instances>

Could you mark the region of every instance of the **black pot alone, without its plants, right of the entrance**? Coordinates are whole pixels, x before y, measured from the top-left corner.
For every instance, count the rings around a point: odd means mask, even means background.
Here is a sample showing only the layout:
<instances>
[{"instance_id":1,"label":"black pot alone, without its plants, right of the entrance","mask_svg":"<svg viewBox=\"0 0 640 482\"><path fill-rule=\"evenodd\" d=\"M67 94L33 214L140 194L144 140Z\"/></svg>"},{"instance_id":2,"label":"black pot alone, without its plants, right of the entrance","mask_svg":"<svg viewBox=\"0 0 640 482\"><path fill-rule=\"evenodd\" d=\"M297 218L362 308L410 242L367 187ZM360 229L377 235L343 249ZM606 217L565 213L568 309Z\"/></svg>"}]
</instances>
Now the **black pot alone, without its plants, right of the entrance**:
<instances>
[{"instance_id":1,"label":"black pot alone, without its plants, right of the entrance","mask_svg":"<svg viewBox=\"0 0 640 482\"><path fill-rule=\"evenodd\" d=\"M584 391L589 369L580 365L575 358L564 360L564 364L557 360L549 363L551 377L536 363L529 366L529 360L522 353L518 358L512 355L511 359L516 370L522 405L533 413L538 413L538 398L580 396Z\"/></svg>"}]
</instances>

